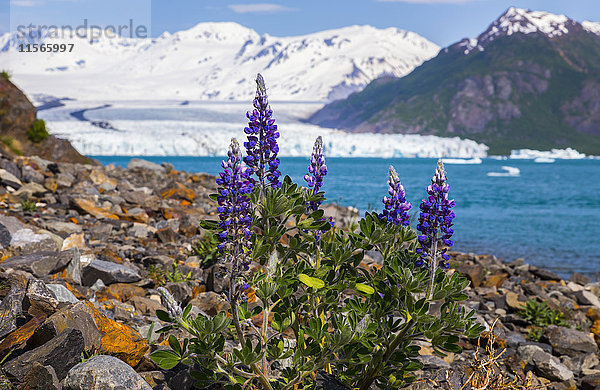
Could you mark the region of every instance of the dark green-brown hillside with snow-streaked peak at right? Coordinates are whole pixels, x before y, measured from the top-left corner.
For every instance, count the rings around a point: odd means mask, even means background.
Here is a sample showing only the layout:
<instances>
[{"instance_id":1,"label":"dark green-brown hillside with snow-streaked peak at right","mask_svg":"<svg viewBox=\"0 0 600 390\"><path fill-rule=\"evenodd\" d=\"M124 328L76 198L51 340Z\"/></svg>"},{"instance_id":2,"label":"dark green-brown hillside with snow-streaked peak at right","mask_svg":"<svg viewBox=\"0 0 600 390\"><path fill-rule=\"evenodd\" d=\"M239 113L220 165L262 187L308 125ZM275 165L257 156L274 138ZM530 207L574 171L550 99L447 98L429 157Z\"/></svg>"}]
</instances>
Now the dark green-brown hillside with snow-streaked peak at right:
<instances>
[{"instance_id":1,"label":"dark green-brown hillside with snow-streaked peak at right","mask_svg":"<svg viewBox=\"0 0 600 390\"><path fill-rule=\"evenodd\" d=\"M354 132L459 136L511 149L600 154L600 25L510 8L403 78L380 78L310 122Z\"/></svg>"}]
</instances>

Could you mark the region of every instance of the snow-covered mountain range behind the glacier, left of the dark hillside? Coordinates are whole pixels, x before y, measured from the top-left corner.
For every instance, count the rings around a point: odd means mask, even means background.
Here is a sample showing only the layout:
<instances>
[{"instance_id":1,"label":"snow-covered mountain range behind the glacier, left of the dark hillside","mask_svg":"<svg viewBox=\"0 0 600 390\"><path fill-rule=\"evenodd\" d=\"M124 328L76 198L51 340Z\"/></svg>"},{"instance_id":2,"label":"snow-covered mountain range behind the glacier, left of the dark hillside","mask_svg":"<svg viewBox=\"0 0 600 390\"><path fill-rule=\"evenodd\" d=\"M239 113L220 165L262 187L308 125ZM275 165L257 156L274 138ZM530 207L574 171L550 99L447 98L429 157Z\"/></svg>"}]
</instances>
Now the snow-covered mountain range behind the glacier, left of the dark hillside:
<instances>
[{"instance_id":1,"label":"snow-covered mountain range behind the glacier, left of the dark hillside","mask_svg":"<svg viewBox=\"0 0 600 390\"><path fill-rule=\"evenodd\" d=\"M236 23L201 23L153 39L57 37L61 33L27 41L16 33L0 36L0 64L30 97L248 100L261 72L275 100L327 101L383 75L406 75L439 51L413 32L371 26L294 37L259 35ZM74 47L71 53L20 53L22 43Z\"/></svg>"}]
</instances>

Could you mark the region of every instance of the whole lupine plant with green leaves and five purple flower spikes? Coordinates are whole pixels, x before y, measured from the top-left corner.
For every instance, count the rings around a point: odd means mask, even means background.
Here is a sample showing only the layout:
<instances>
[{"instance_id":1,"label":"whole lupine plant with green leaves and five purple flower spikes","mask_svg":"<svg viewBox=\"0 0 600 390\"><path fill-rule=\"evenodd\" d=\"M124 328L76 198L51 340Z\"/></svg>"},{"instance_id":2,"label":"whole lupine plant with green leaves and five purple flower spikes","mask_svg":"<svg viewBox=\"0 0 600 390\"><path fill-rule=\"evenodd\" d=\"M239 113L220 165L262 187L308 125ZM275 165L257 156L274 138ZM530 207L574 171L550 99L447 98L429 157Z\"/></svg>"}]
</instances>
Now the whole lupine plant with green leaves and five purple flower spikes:
<instances>
[{"instance_id":1,"label":"whole lupine plant with green leaves and five purple flower spikes","mask_svg":"<svg viewBox=\"0 0 600 390\"><path fill-rule=\"evenodd\" d=\"M440 267L419 266L423 259L437 258L437 249L428 243L451 235L451 225L438 218L450 216L444 213L451 206L437 198L447 200L445 175L436 171L428 187L429 205L421 207L419 226L428 240L417 238L409 226L410 204L393 169L384 211L367 213L355 231L333 229L320 208L327 173L322 140L317 139L311 156L309 186L288 176L280 182L273 173L279 167L273 157L277 137L265 91L259 76L256 110L248 115L249 128L258 130L246 129L243 161L232 141L214 196L220 220L202 223L222 240L229 308L214 317L192 315L192 306L182 309L166 289L159 289L167 309L157 311L167 323L160 332L179 328L191 338L179 341L171 335L170 349L152 357L164 369L191 366L200 388L316 389L319 373L352 389L406 386L416 379L411 373L422 367L418 341L429 341L443 355L460 352L459 335L476 337L483 330L474 313L458 305L468 281ZM259 185L250 173L258 176ZM439 224L424 231L432 218ZM431 235L432 229L438 230ZM367 251L381 254L381 267L364 265ZM247 299L249 292L255 301ZM225 348L227 339L233 339L233 350Z\"/></svg>"}]
</instances>

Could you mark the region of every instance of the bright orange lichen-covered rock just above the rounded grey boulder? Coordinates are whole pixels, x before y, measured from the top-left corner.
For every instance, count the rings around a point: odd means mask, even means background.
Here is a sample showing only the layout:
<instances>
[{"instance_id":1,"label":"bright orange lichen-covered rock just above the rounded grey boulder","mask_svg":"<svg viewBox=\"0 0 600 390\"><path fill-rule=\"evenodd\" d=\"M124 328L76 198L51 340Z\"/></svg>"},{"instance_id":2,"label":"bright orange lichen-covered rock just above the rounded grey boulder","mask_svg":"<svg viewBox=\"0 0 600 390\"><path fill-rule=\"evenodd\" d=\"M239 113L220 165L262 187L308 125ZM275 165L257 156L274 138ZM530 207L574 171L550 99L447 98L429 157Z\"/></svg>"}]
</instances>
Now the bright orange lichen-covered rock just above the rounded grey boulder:
<instances>
[{"instance_id":1,"label":"bright orange lichen-covered rock just above the rounded grey boulder","mask_svg":"<svg viewBox=\"0 0 600 390\"><path fill-rule=\"evenodd\" d=\"M148 350L148 342L133 328L107 318L90 302L96 325L102 333L100 352L118 357L130 366L136 366Z\"/></svg>"}]
</instances>

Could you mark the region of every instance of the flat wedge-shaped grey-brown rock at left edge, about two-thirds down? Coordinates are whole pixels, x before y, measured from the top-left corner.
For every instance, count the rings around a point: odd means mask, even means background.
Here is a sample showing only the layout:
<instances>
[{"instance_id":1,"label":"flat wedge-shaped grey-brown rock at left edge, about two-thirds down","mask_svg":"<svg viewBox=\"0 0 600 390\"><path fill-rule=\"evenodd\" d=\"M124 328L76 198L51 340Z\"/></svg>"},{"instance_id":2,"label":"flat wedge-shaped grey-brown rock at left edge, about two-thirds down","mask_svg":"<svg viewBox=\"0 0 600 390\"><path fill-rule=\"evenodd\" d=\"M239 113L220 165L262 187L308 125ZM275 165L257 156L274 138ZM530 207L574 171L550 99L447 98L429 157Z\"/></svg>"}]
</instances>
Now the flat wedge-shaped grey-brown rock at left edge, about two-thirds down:
<instances>
[{"instance_id":1,"label":"flat wedge-shaped grey-brown rock at left edge, about two-thirds down","mask_svg":"<svg viewBox=\"0 0 600 390\"><path fill-rule=\"evenodd\" d=\"M42 278L64 268L72 257L72 251L37 252L8 258L0 263L0 269L18 269Z\"/></svg>"}]
</instances>

